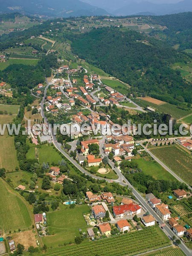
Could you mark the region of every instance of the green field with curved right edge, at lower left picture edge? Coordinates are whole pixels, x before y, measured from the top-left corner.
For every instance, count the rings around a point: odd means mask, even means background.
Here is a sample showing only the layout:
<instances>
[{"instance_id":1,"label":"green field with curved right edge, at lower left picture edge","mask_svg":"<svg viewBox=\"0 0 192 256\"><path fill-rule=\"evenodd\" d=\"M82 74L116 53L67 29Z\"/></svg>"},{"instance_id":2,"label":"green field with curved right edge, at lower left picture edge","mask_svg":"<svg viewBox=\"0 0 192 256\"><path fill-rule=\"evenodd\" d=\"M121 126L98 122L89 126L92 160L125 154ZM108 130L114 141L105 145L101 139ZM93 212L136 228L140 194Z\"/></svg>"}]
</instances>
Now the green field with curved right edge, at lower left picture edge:
<instances>
[{"instance_id":1,"label":"green field with curved right edge, at lower left picture edge","mask_svg":"<svg viewBox=\"0 0 192 256\"><path fill-rule=\"evenodd\" d=\"M4 232L28 229L32 225L32 219L27 203L2 179L0 195L0 227Z\"/></svg>"}]
</instances>

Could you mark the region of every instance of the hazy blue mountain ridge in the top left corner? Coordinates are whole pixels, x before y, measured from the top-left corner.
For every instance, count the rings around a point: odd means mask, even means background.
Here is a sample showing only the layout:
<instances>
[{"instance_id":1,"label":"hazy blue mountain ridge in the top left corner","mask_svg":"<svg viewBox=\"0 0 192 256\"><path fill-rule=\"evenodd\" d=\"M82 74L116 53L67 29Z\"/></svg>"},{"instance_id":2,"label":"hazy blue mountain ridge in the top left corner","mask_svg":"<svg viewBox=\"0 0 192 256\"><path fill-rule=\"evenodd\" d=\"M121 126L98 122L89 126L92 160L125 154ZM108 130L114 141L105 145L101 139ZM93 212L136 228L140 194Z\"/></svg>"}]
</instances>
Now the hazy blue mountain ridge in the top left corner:
<instances>
[{"instance_id":1,"label":"hazy blue mountain ridge in the top left corner","mask_svg":"<svg viewBox=\"0 0 192 256\"><path fill-rule=\"evenodd\" d=\"M104 9L80 0L0 0L0 13L7 12L49 17L108 15Z\"/></svg>"}]
</instances>

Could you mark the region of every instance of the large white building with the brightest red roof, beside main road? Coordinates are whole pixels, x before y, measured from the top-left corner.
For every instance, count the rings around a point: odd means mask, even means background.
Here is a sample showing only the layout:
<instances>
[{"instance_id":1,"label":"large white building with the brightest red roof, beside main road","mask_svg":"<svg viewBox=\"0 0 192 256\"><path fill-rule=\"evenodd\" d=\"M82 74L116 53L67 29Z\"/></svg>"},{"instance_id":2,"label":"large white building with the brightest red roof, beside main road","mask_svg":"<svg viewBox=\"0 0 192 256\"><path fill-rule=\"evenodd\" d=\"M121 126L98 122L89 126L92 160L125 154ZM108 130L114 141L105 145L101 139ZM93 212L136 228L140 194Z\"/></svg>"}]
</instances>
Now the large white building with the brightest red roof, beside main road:
<instances>
[{"instance_id":1,"label":"large white building with the brightest red roof, beside main road","mask_svg":"<svg viewBox=\"0 0 192 256\"><path fill-rule=\"evenodd\" d=\"M113 215L115 218L123 218L126 215L138 215L141 213L141 207L138 204L131 203L131 204L123 204L119 206L113 207Z\"/></svg>"}]
</instances>

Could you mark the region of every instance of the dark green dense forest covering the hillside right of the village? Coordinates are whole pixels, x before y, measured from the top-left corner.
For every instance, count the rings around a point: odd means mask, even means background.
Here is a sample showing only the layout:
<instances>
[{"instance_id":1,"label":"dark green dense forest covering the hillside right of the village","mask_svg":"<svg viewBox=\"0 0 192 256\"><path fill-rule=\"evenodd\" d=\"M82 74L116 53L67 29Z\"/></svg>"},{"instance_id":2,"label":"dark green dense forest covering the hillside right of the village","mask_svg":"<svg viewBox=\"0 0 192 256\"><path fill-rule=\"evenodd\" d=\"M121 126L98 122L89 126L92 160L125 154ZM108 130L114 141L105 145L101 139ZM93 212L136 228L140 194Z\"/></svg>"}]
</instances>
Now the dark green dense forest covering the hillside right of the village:
<instances>
[{"instance_id":1,"label":"dark green dense forest covering the hillside right of the village","mask_svg":"<svg viewBox=\"0 0 192 256\"><path fill-rule=\"evenodd\" d=\"M91 64L130 84L135 91L153 94L170 103L192 102L192 88L169 64L189 61L155 38L118 28L93 29L72 38L72 49Z\"/></svg>"}]
</instances>

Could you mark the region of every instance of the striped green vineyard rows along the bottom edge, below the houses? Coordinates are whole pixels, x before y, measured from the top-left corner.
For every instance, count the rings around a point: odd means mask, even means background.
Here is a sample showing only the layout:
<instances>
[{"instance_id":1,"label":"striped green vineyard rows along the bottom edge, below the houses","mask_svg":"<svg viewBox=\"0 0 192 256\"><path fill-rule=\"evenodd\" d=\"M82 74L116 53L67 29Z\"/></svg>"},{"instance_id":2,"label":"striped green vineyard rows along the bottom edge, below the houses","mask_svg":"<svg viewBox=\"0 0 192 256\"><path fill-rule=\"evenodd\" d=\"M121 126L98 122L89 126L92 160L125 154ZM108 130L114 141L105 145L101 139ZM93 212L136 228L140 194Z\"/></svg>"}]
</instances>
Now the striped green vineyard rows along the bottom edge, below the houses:
<instances>
[{"instance_id":1,"label":"striped green vineyard rows along the bottom edge, below the houses","mask_svg":"<svg viewBox=\"0 0 192 256\"><path fill-rule=\"evenodd\" d=\"M105 256L106 252L108 256L132 256L169 244L169 239L159 227L148 227L122 236L114 236L79 246L63 247L60 250L52 250L52 252L50 250L44 256Z\"/></svg>"}]
</instances>

